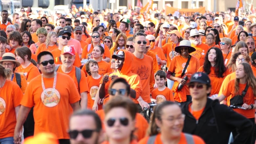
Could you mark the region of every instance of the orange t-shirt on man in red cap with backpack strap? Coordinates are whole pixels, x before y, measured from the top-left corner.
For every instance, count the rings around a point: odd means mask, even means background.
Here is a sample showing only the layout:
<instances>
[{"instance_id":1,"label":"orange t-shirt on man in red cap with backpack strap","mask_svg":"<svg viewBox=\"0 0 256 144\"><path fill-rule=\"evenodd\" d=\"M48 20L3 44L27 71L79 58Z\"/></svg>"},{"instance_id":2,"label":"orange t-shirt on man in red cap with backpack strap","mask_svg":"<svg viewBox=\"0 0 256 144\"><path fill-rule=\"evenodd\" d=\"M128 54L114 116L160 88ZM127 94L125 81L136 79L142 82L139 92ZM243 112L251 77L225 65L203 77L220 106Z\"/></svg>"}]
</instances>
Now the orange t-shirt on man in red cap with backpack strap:
<instances>
[{"instance_id":1,"label":"orange t-shirt on man in red cap with backpack strap","mask_svg":"<svg viewBox=\"0 0 256 144\"><path fill-rule=\"evenodd\" d=\"M57 72L64 73L61 69L61 66L62 65L59 66ZM86 77L85 77L85 74L84 74L83 71L81 71L81 79L80 79L79 87L78 87L78 83L77 83L77 78L75 76L75 66L73 66L72 70L69 73L64 73L64 74L69 75L74 80L77 92L79 92L79 93L83 93L83 92L89 93L87 80L86 80ZM79 91L79 88L80 88L80 91Z\"/></svg>"}]
</instances>

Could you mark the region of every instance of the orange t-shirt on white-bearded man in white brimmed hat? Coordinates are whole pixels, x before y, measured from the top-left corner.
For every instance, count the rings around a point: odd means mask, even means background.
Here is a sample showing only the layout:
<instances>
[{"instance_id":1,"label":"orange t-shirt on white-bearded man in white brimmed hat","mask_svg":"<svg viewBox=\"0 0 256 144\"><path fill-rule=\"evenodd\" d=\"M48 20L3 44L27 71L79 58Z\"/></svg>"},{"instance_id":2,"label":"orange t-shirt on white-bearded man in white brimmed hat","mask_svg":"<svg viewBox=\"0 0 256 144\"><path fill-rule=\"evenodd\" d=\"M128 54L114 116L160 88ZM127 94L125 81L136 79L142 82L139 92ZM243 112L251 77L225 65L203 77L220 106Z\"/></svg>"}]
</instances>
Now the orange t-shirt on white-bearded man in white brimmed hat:
<instances>
[{"instance_id":1,"label":"orange t-shirt on white-bearded man in white brimmed hat","mask_svg":"<svg viewBox=\"0 0 256 144\"><path fill-rule=\"evenodd\" d=\"M209 46L204 43L201 43L198 46L191 44L191 47L196 49L196 51L191 52L191 55L195 56L199 60L200 66L203 66L206 52L210 49Z\"/></svg>"}]
</instances>

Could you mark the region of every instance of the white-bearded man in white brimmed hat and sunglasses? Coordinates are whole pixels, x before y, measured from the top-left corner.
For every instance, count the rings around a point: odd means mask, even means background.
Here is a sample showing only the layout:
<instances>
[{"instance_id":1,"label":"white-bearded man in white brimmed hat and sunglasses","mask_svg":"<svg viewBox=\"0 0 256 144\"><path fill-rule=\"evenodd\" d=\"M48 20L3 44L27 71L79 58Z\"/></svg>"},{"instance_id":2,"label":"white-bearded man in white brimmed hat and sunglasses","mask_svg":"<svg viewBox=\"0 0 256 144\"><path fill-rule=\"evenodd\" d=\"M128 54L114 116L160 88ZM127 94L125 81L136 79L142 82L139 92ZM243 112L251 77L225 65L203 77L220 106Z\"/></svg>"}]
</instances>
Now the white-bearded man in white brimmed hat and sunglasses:
<instances>
[{"instance_id":1,"label":"white-bearded man in white brimmed hat and sunglasses","mask_svg":"<svg viewBox=\"0 0 256 144\"><path fill-rule=\"evenodd\" d=\"M204 57L206 52L209 50L207 44L202 43L202 33L199 33L197 29L192 29L190 31L190 36L188 37L191 42L191 47L195 48L196 51L192 52L191 55L195 56L200 63L200 66L203 66Z\"/></svg>"}]
</instances>

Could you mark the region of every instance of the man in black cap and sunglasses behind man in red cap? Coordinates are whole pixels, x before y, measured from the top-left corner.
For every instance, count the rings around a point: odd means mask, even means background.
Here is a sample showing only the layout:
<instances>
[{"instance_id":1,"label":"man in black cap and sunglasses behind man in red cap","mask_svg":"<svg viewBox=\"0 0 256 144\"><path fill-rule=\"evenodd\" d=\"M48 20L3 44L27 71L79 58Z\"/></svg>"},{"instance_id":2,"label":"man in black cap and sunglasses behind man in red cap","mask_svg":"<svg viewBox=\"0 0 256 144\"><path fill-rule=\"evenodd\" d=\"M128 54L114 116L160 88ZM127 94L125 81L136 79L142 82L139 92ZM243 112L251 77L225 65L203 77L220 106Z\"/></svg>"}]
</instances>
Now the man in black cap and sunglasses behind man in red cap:
<instances>
[{"instance_id":1,"label":"man in black cap and sunglasses behind man in red cap","mask_svg":"<svg viewBox=\"0 0 256 144\"><path fill-rule=\"evenodd\" d=\"M53 54L54 62L55 62L56 65L62 64L62 61L61 61L61 58L60 58L61 50L64 46L68 45L68 40L70 40L70 36L71 36L71 33L68 32L68 31L64 31L64 30L59 31L59 33L57 35L57 37L58 37L57 40L58 40L59 47L58 47L58 49L50 51ZM78 67L78 68L82 65L77 52L75 52L75 61L74 61L73 65Z\"/></svg>"}]
</instances>

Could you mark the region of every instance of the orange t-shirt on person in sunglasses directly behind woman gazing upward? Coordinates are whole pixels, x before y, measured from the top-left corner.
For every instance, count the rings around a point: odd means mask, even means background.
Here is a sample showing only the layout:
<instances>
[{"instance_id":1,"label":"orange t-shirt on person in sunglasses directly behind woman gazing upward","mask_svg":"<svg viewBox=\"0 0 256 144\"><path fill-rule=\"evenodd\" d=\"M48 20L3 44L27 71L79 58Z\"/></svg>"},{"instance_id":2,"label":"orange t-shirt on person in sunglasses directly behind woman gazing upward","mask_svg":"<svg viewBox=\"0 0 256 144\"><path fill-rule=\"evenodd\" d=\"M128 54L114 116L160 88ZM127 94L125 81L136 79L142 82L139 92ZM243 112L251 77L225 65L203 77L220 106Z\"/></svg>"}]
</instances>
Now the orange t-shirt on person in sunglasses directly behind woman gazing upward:
<instances>
[{"instance_id":1,"label":"orange t-shirt on person in sunglasses directly behind woman gazing upward","mask_svg":"<svg viewBox=\"0 0 256 144\"><path fill-rule=\"evenodd\" d=\"M82 51L82 57L81 58L86 58L86 59L91 59L93 58L92 57L92 52L93 52L93 44L91 44L91 48L90 50L88 51L88 46L89 45L86 45L84 48L83 48L83 51ZM106 58L106 57L109 57L111 58L111 55L110 55L110 51L109 51L109 48L107 45L104 45L104 53L102 55L102 58Z\"/></svg>"}]
</instances>

